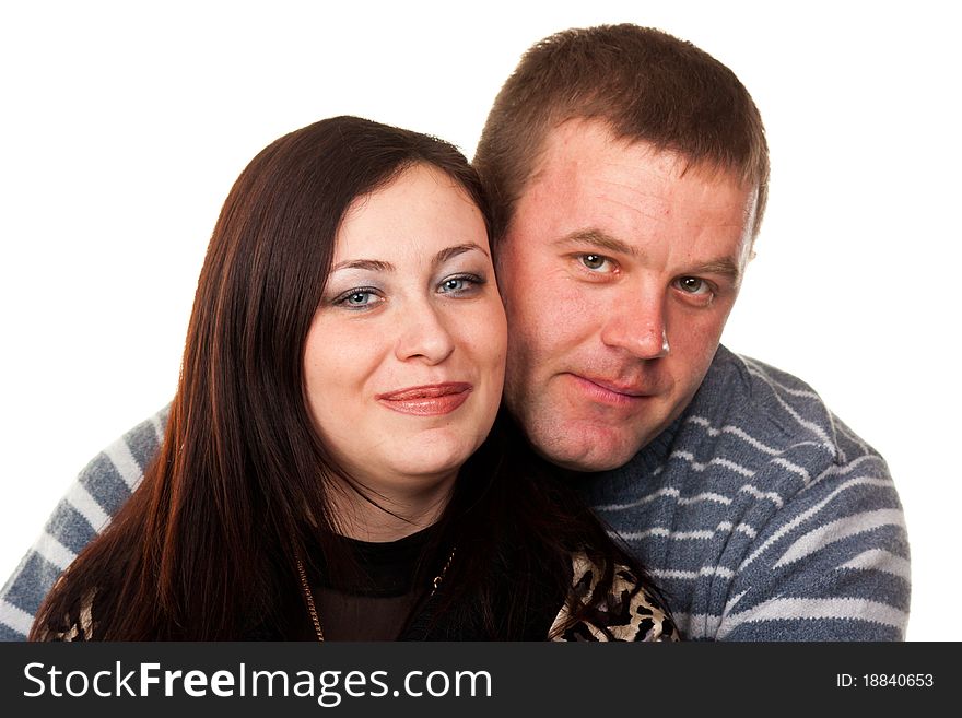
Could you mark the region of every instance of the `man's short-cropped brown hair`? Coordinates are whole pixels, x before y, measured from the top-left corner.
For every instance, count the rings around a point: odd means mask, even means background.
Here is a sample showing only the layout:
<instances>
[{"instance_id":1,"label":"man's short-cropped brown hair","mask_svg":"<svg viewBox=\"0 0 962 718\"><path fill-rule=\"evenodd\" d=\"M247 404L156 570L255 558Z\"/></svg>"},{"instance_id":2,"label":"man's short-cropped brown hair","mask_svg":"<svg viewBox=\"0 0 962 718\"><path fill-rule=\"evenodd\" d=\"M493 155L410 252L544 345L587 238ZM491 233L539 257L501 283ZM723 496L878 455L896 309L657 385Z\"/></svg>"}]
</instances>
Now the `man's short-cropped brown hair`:
<instances>
[{"instance_id":1,"label":"man's short-cropped brown hair","mask_svg":"<svg viewBox=\"0 0 962 718\"><path fill-rule=\"evenodd\" d=\"M756 186L758 234L769 148L748 91L691 43L622 24L566 30L537 43L497 94L473 158L493 204L493 240L507 231L545 136L574 118L605 120L620 139Z\"/></svg>"}]
</instances>

